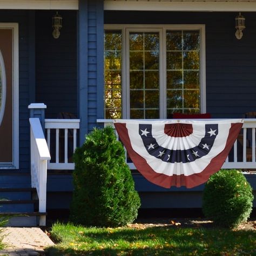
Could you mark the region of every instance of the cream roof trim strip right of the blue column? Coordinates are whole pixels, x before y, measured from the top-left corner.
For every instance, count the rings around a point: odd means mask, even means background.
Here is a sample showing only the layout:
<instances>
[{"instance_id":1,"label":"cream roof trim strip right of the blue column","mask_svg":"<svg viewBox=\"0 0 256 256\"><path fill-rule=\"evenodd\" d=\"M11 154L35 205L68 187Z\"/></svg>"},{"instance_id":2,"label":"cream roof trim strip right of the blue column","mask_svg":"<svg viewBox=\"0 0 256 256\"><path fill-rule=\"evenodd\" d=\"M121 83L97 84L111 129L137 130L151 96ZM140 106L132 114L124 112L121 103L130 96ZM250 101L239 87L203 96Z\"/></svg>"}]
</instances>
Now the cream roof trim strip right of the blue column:
<instances>
[{"instance_id":1,"label":"cream roof trim strip right of the blue column","mask_svg":"<svg viewBox=\"0 0 256 256\"><path fill-rule=\"evenodd\" d=\"M104 1L104 10L129 11L256 11L256 2Z\"/></svg>"}]
</instances>

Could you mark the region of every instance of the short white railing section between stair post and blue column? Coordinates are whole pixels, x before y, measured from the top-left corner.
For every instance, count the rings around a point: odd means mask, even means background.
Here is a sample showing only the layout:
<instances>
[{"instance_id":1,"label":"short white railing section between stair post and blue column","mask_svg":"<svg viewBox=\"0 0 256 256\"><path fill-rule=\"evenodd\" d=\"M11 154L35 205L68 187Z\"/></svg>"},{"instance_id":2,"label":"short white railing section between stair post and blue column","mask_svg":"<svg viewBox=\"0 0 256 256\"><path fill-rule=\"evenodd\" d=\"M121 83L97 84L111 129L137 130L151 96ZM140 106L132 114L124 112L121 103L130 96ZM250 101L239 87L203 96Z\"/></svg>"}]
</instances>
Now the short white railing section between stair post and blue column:
<instances>
[{"instance_id":1,"label":"short white railing section between stair post and blue column","mask_svg":"<svg viewBox=\"0 0 256 256\"><path fill-rule=\"evenodd\" d=\"M77 147L79 119L45 119L47 145L51 152L49 170L73 170L72 154Z\"/></svg>"}]
</instances>

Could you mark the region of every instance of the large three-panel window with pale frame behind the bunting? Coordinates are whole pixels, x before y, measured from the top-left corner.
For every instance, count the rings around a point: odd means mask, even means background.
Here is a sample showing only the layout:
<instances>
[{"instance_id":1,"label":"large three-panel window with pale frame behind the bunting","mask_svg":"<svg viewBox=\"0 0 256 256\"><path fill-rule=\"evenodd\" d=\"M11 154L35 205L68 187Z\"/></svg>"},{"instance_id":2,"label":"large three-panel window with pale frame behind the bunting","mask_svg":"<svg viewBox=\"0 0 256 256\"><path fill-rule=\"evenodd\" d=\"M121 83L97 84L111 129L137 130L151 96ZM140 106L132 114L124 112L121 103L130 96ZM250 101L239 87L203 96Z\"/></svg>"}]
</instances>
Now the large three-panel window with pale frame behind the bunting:
<instances>
[{"instance_id":1,"label":"large three-panel window with pale frame behind the bunting","mask_svg":"<svg viewBox=\"0 0 256 256\"><path fill-rule=\"evenodd\" d=\"M104 35L105 118L205 111L203 25L111 25Z\"/></svg>"}]
</instances>

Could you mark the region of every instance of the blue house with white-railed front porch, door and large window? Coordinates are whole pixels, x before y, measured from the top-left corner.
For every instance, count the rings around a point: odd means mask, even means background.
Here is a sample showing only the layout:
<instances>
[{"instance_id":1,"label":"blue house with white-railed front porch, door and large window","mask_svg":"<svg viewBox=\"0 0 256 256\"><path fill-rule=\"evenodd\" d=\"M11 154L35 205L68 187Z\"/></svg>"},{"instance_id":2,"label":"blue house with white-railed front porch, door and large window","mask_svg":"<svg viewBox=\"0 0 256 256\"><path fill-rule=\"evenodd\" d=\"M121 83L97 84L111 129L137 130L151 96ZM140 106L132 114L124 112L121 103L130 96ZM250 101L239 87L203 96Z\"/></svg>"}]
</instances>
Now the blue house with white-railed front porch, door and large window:
<instances>
[{"instance_id":1,"label":"blue house with white-railed front porch, door and large window","mask_svg":"<svg viewBox=\"0 0 256 256\"><path fill-rule=\"evenodd\" d=\"M69 208L72 152L114 118L247 117L223 168L255 191L255 11L254 0L0 0L0 209L22 214L10 225ZM129 165L142 208L201 207L203 185L161 188Z\"/></svg>"}]
</instances>

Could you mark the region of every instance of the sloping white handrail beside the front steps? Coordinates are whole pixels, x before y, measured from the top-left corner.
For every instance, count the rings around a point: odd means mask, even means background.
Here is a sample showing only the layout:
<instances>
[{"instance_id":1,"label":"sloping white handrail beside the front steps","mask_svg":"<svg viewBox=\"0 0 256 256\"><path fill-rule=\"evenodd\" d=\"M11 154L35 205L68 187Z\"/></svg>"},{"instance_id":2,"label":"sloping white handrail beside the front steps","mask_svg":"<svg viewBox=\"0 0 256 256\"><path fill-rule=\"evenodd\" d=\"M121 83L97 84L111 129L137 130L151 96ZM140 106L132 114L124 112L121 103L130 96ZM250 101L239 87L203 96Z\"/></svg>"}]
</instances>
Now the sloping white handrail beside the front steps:
<instances>
[{"instance_id":1,"label":"sloping white handrail beside the front steps","mask_svg":"<svg viewBox=\"0 0 256 256\"><path fill-rule=\"evenodd\" d=\"M47 161L51 159L39 118L29 118L31 146L31 186L36 188L39 212L46 212ZM39 225L45 226L46 216L41 215Z\"/></svg>"}]
</instances>

